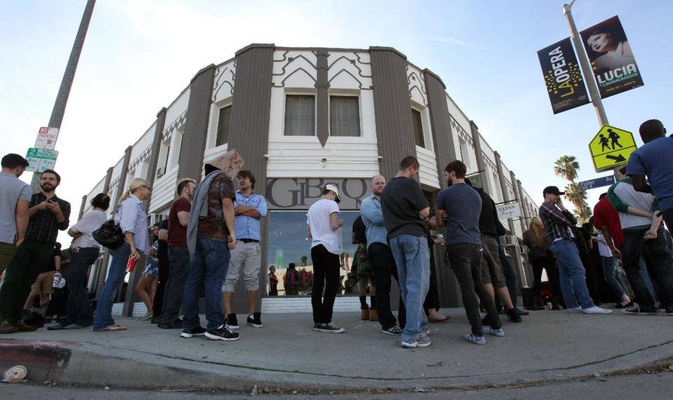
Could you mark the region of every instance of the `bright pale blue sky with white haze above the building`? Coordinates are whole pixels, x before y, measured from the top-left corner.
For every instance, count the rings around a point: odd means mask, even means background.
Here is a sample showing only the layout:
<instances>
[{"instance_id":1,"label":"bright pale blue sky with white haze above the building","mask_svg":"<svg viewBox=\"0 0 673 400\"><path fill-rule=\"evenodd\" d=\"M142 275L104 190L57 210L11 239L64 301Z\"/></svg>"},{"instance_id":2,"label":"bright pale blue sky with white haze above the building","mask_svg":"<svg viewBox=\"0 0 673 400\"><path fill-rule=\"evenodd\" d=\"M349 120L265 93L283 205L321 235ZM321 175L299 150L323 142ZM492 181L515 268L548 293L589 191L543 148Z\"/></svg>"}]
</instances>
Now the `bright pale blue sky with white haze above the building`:
<instances>
[{"instance_id":1,"label":"bright pale blue sky with white haze above the building","mask_svg":"<svg viewBox=\"0 0 673 400\"><path fill-rule=\"evenodd\" d=\"M57 194L72 204L154 123L196 72L250 43L389 46L442 77L503 163L536 200L560 156L576 156L579 180L593 170L588 143L599 130L592 106L554 115L537 51L569 36L562 0L173 1L99 0L56 145ZM34 145L47 125L79 27L84 0L0 0L0 153ZM604 100L611 125L634 132L673 118L673 15L667 0L578 0L586 29L619 15L644 86ZM585 77L586 78L586 77ZM32 173L22 176L30 181ZM597 202L601 189L589 192Z\"/></svg>"}]
</instances>

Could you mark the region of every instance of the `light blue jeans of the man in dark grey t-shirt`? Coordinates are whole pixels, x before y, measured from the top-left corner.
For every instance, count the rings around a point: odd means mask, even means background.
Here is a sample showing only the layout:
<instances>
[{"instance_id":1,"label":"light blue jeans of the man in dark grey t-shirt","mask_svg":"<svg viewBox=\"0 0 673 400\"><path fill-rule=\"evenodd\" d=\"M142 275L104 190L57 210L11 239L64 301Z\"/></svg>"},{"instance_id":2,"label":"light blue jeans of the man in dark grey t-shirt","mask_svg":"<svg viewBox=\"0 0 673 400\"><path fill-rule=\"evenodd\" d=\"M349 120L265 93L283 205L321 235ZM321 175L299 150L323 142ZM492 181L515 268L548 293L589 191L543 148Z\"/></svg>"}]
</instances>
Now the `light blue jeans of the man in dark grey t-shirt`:
<instances>
[{"instance_id":1,"label":"light blue jeans of the man in dark grey t-shirt","mask_svg":"<svg viewBox=\"0 0 673 400\"><path fill-rule=\"evenodd\" d=\"M390 239L390 250L397 265L402 301L407 309L407 323L402 341L416 338L428 329L423 301L430 287L430 257L426 237L399 235Z\"/></svg>"}]
</instances>

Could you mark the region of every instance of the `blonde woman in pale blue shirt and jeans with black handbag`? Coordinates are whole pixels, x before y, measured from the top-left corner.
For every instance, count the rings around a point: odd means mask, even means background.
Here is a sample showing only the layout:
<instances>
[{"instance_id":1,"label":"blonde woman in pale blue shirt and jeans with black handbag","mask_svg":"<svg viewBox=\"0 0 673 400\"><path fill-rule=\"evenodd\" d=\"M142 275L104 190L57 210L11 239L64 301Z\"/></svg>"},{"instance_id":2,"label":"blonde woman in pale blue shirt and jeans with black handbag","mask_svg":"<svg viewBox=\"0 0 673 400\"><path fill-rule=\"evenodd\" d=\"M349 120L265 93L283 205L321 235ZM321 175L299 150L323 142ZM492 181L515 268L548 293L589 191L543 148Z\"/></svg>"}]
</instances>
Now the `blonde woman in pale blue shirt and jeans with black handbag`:
<instances>
[{"instance_id":1,"label":"blonde woman in pale blue shirt and jeans with black handbag","mask_svg":"<svg viewBox=\"0 0 673 400\"><path fill-rule=\"evenodd\" d=\"M93 320L93 331L123 331L126 328L114 323L112 305L117 290L126 275L126 263L129 258L137 259L140 254L149 253L149 233L147 230L147 214L142 201L147 200L151 193L149 182L135 178L128 183L128 190L119 199L119 206L114 221L124 233L121 247L110 249L112 261L107 273L103 289L98 295L96 314Z\"/></svg>"}]
</instances>

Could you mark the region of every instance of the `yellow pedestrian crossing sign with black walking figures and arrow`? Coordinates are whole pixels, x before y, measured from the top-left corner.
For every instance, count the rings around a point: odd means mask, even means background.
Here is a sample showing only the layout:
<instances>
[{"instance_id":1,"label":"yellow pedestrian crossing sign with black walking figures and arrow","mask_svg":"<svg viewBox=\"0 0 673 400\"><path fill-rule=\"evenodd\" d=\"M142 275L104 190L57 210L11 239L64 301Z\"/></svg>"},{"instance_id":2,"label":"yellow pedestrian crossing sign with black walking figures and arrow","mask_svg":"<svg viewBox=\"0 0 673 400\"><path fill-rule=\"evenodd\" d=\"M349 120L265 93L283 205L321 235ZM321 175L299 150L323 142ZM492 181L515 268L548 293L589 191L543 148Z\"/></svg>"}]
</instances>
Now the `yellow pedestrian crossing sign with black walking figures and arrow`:
<instances>
[{"instance_id":1,"label":"yellow pedestrian crossing sign with black walking figures and arrow","mask_svg":"<svg viewBox=\"0 0 673 400\"><path fill-rule=\"evenodd\" d=\"M604 125L589 143L589 151L596 172L612 170L626 165L636 148L631 132L610 125Z\"/></svg>"}]
</instances>

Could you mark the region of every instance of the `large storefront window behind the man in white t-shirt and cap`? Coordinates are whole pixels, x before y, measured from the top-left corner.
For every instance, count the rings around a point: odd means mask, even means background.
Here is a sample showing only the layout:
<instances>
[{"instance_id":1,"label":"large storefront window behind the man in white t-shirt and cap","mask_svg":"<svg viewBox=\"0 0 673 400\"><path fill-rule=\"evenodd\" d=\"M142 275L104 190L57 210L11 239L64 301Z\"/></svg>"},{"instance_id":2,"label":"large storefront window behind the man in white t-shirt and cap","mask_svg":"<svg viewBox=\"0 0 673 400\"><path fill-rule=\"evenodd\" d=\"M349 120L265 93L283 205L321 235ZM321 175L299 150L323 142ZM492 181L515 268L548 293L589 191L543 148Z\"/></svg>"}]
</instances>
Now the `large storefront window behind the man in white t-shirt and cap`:
<instances>
[{"instance_id":1,"label":"large storefront window behind the man in white t-shirt and cap","mask_svg":"<svg viewBox=\"0 0 673 400\"><path fill-rule=\"evenodd\" d=\"M348 280L353 255L358 248L356 244L351 244L351 232L353 222L359 215L358 211L342 211L339 214L339 218L344 220L344 226L339 228L339 248L341 249L339 275L341 278L337 294L346 294L344 284ZM311 263L311 238L308 237L306 230L306 210L271 211L268 213L268 224L266 261L269 270L266 284L268 295L310 295L313 286L313 264ZM292 270L288 273L290 263L294 263L296 273ZM274 284L274 282L277 283Z\"/></svg>"}]
</instances>

